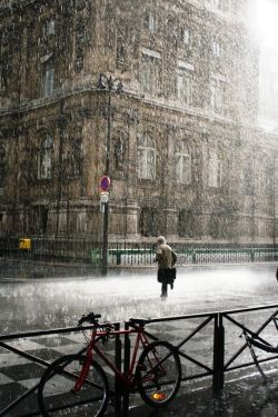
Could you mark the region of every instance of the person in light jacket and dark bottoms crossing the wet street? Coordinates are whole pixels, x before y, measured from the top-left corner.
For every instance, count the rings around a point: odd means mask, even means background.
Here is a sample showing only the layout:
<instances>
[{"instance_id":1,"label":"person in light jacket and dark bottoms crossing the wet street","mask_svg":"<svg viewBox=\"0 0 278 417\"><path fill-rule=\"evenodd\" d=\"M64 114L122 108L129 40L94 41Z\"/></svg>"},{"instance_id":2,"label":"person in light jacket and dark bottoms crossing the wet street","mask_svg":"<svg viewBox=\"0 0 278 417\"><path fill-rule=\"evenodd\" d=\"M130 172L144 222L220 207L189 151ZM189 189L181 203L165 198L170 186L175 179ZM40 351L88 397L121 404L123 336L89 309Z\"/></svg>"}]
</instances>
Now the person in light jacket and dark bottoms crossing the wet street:
<instances>
[{"instance_id":1,"label":"person in light jacket and dark bottoms crossing the wet street","mask_svg":"<svg viewBox=\"0 0 278 417\"><path fill-rule=\"evenodd\" d=\"M161 296L167 297L168 284L170 284L171 289L173 288L173 270L172 267L177 261L177 255L170 248L169 245L166 245L166 238L159 236L157 239L158 248L155 261L158 262L158 281L161 282Z\"/></svg>"}]
</instances>

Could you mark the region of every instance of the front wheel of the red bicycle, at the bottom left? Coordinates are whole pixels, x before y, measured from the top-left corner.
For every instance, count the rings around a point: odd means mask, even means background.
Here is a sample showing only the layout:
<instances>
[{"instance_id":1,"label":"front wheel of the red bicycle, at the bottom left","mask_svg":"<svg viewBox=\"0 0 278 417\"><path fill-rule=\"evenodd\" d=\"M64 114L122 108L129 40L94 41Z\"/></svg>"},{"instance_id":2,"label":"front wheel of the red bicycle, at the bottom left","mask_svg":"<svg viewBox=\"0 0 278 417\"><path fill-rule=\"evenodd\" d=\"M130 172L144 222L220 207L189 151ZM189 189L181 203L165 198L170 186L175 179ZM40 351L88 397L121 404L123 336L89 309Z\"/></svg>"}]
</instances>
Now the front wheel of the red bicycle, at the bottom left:
<instances>
[{"instance_id":1,"label":"front wheel of the red bicycle, at the bottom left","mask_svg":"<svg viewBox=\"0 0 278 417\"><path fill-rule=\"evenodd\" d=\"M72 391L85 361L83 355L68 355L53 361L46 370L38 387L42 416L103 416L108 405L109 386L98 363L92 360L80 391Z\"/></svg>"}]
</instances>

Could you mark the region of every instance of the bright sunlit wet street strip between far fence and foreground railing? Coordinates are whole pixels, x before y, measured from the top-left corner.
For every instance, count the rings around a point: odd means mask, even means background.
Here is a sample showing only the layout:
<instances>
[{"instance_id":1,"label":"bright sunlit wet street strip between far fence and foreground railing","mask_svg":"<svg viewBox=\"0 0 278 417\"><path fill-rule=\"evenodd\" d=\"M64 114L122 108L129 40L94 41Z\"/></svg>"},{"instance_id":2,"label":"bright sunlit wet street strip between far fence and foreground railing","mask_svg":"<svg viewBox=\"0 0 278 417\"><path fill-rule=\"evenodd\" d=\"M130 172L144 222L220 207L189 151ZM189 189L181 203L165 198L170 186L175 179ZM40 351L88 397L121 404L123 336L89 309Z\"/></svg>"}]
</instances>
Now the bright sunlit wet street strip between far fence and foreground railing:
<instances>
[{"instance_id":1,"label":"bright sunlit wet street strip between far fence and foreground railing","mask_svg":"<svg viewBox=\"0 0 278 417\"><path fill-rule=\"evenodd\" d=\"M156 269L105 277L0 279L0 334L75 326L82 314L105 320L169 317L277 302L276 264L178 267L160 298Z\"/></svg>"}]
</instances>

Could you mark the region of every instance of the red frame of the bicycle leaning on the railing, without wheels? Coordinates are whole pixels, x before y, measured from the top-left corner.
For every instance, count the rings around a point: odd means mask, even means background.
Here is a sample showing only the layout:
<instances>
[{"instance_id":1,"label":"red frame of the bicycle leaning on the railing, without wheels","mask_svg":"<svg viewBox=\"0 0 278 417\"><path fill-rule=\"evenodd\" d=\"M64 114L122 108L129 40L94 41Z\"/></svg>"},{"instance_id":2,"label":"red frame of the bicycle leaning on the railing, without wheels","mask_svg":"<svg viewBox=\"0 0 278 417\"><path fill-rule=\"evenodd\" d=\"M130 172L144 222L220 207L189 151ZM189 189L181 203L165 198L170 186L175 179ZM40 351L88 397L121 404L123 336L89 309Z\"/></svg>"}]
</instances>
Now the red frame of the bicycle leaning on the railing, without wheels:
<instances>
[{"instance_id":1,"label":"red frame of the bicycle leaning on the railing, without wheels","mask_svg":"<svg viewBox=\"0 0 278 417\"><path fill-rule=\"evenodd\" d=\"M130 334L137 334L137 337L136 337L136 342L133 347L130 366L129 366L128 373L125 374L125 373L121 373L119 369L117 369L116 366L108 359L103 350L101 350L97 346L98 340L96 341L96 339L100 339L101 337L108 336L108 335L116 336L116 335L130 335ZM80 375L76 381L76 385L72 391L78 393L81 389L85 380L87 379L93 353L97 354L106 363L106 365L113 371L116 378L121 380L121 383L126 386L126 388L128 388L129 390L132 389L136 386L135 367L136 367L138 349L140 345L143 348L149 345L149 340L147 336L145 335L145 329L141 326L135 326L135 328L128 329L128 330L113 330L111 332L108 332L107 330L92 330L91 339L87 347L87 354L86 354L87 359L82 366L82 369L80 371ZM82 349L81 353L83 353L85 350L86 349Z\"/></svg>"}]
</instances>

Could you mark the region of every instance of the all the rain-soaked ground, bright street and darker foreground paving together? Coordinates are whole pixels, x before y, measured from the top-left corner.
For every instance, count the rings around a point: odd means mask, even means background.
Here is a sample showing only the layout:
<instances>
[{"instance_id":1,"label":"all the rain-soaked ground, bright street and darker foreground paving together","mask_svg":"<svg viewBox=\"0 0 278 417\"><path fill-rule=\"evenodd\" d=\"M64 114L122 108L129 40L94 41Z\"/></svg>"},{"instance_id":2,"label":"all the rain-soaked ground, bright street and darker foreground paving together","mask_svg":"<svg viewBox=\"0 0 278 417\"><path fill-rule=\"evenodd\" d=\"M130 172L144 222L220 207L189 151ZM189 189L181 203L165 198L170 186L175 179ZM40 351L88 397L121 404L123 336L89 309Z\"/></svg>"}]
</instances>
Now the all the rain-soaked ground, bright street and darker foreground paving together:
<instances>
[{"instance_id":1,"label":"all the rain-soaked ground, bright street and darker foreground paving together","mask_svg":"<svg viewBox=\"0 0 278 417\"><path fill-rule=\"evenodd\" d=\"M175 288L169 290L167 299L160 298L160 285L156 280L155 269L110 271L106 278L1 278L0 334L75 326L82 314L91 310L101 312L105 320L122 321L130 317L170 317L276 304L276 267L275 264L179 267ZM268 310L238 314L236 318L256 330L269 314ZM152 324L150 331L178 345L199 324L198 319ZM226 358L242 345L239 330L226 322ZM270 329L266 335L272 337L272 332ZM210 324L186 344L183 351L211 367L212 338L214 326ZM277 337L276 339L278 340ZM50 361L61 355L76 353L80 347L80 340L72 335L21 339L14 344L19 346L19 342L23 350ZM24 360L20 360L17 363L13 354L7 354L0 348L1 406L3 403L8 405L9 398L14 399L18 393L32 386L41 376L43 369L33 367L32 364L27 366ZM250 354L245 351L240 360L250 360ZM278 417L278 376L276 363L271 364L271 374L266 385L254 367L245 368L242 371L227 374L220 396L212 395L211 378L182 383L178 399L168 408L159 411L147 406L133 408L138 401L131 398L129 415ZM195 373L192 364L182 363L183 376ZM251 378L242 379L250 374L254 374ZM36 403L33 396L32 403ZM11 416L18 417L19 414L9 414Z\"/></svg>"}]
</instances>

